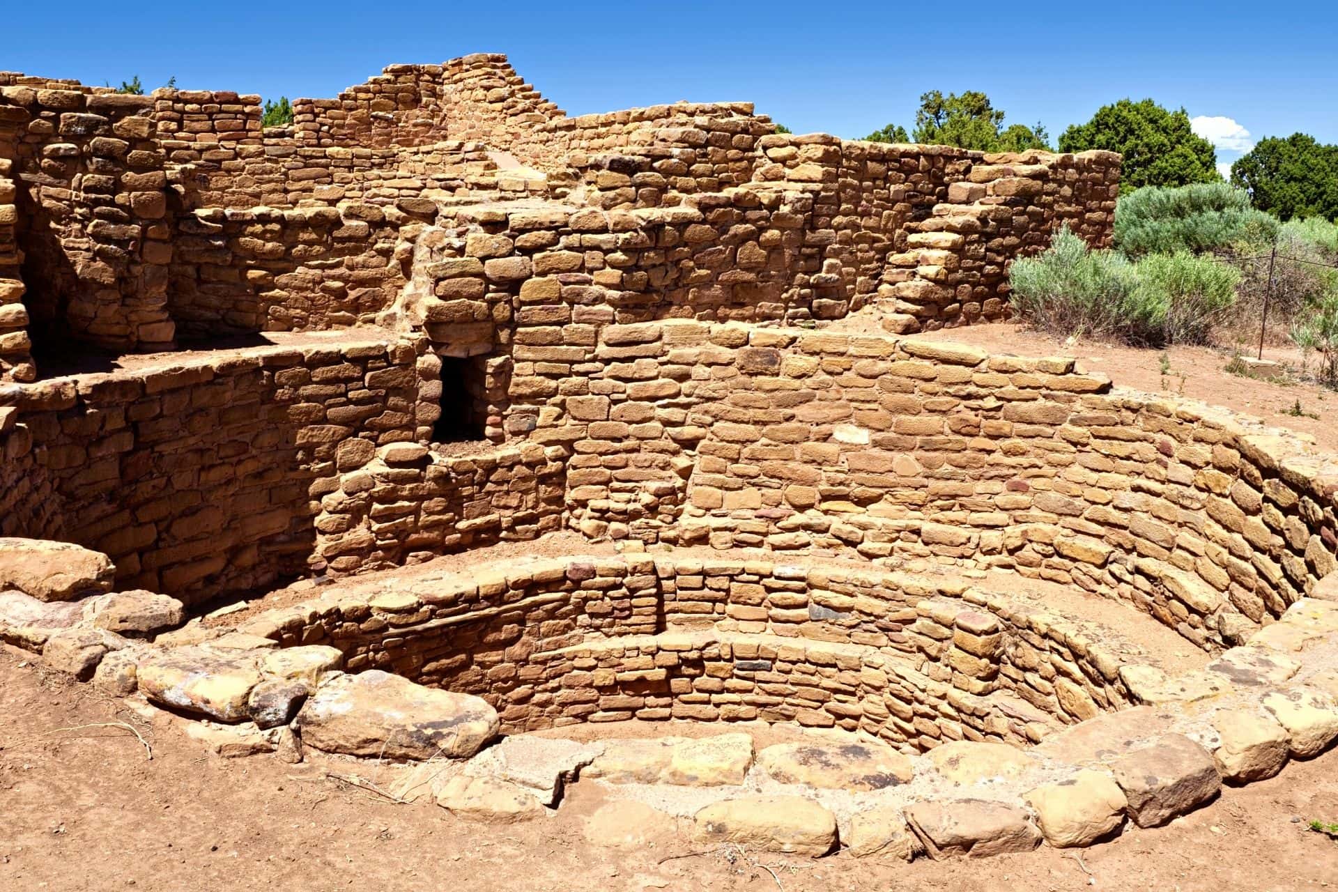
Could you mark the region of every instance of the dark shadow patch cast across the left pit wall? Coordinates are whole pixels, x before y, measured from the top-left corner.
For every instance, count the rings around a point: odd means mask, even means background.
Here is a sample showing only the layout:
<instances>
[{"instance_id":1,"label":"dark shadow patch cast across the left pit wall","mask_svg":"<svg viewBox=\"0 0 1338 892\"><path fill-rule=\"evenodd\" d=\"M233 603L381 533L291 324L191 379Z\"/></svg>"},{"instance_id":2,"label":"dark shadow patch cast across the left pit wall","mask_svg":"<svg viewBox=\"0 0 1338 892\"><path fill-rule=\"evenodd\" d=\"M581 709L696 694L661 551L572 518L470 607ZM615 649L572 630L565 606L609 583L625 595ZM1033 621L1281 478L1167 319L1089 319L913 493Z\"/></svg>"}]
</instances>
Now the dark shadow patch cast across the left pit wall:
<instances>
[{"instance_id":1,"label":"dark shadow patch cast across the left pit wall","mask_svg":"<svg viewBox=\"0 0 1338 892\"><path fill-rule=\"evenodd\" d=\"M24 413L60 538L106 552L119 588L187 603L305 571L316 542L312 467L333 444L313 441L290 412L296 395L274 377L260 361L217 376L169 369L108 378L60 409Z\"/></svg>"}]
</instances>

